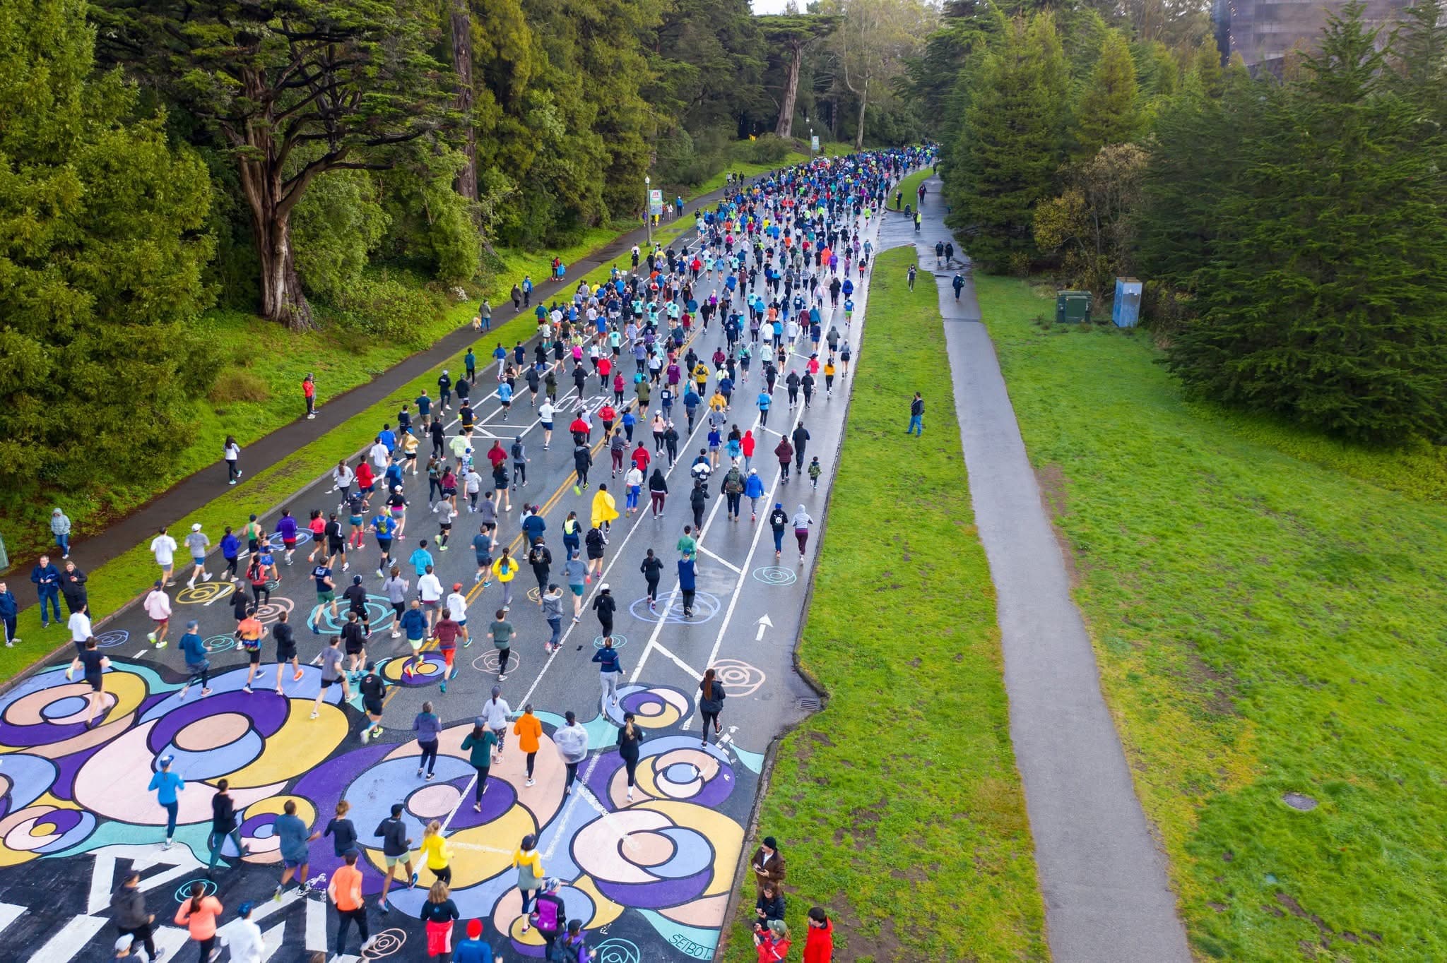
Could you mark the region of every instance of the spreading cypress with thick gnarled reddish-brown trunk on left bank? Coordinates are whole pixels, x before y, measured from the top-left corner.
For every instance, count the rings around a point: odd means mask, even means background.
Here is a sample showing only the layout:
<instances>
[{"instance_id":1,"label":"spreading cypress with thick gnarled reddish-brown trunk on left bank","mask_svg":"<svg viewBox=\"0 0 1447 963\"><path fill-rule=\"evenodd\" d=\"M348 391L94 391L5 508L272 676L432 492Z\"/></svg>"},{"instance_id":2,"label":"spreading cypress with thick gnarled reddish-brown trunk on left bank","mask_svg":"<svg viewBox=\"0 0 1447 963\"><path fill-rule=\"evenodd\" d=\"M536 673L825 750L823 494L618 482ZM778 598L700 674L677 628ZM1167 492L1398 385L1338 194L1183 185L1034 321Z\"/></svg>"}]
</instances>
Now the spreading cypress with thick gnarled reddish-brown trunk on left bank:
<instances>
[{"instance_id":1,"label":"spreading cypress with thick gnarled reddish-brown trunk on left bank","mask_svg":"<svg viewBox=\"0 0 1447 963\"><path fill-rule=\"evenodd\" d=\"M101 49L210 123L236 159L260 259L260 312L311 307L291 213L328 171L392 166L454 127L456 82L428 54L437 17L385 0L98 0ZM300 147L305 163L289 165Z\"/></svg>"}]
</instances>

